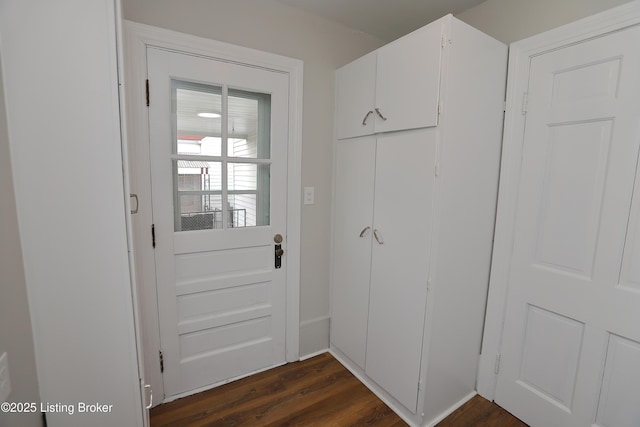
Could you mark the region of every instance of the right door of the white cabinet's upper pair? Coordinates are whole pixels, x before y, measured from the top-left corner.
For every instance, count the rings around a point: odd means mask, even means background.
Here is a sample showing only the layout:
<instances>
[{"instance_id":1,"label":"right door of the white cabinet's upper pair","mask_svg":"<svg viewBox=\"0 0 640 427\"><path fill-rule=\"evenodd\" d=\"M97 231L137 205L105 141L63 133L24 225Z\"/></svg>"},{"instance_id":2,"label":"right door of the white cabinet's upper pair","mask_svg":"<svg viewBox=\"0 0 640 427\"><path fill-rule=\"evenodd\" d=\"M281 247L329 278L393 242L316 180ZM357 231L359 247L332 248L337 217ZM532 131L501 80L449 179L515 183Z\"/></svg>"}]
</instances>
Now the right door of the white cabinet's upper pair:
<instances>
[{"instance_id":1,"label":"right door of the white cabinet's upper pair","mask_svg":"<svg viewBox=\"0 0 640 427\"><path fill-rule=\"evenodd\" d=\"M378 49L375 131L438 124L442 30L438 20Z\"/></svg>"}]
</instances>

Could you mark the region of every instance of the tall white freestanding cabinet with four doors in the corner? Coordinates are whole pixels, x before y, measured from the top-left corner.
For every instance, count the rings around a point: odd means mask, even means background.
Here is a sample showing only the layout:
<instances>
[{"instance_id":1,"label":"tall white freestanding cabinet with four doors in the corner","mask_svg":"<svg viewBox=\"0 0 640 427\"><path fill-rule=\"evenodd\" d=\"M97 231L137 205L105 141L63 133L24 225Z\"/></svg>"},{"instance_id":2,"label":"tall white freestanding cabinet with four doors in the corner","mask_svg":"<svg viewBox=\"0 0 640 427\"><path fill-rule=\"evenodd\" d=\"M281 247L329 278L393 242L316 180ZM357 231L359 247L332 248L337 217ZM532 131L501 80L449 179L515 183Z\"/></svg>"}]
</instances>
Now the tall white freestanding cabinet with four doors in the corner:
<instances>
[{"instance_id":1,"label":"tall white freestanding cabinet with four doors in the corner","mask_svg":"<svg viewBox=\"0 0 640 427\"><path fill-rule=\"evenodd\" d=\"M425 28L336 74L331 351L414 425L475 393L507 56L450 15ZM423 51L437 72L405 77ZM345 81L370 83L373 58L387 120L374 107L349 130L341 115L371 93Z\"/></svg>"}]
</instances>

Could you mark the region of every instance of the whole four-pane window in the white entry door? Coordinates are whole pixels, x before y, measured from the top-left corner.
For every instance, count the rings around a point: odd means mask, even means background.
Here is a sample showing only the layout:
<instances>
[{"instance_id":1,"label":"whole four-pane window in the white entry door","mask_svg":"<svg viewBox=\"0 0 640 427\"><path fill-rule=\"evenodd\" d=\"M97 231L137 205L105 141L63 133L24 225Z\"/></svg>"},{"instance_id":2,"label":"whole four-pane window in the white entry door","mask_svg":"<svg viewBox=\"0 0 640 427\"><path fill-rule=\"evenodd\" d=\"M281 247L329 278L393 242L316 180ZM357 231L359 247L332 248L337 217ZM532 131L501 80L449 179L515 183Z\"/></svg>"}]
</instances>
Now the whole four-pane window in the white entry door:
<instances>
[{"instance_id":1,"label":"whole four-pane window in the white entry door","mask_svg":"<svg viewBox=\"0 0 640 427\"><path fill-rule=\"evenodd\" d=\"M270 223L271 95L171 81L174 229Z\"/></svg>"}]
</instances>

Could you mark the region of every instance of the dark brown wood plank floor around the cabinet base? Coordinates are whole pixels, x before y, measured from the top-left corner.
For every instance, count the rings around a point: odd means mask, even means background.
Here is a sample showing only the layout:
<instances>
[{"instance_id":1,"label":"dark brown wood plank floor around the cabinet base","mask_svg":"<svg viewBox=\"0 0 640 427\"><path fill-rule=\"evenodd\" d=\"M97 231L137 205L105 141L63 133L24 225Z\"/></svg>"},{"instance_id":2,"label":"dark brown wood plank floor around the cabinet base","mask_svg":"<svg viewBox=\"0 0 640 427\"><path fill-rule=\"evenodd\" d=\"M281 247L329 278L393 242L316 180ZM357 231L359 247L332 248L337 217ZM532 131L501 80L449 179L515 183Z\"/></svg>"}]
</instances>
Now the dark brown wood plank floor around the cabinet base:
<instances>
[{"instance_id":1,"label":"dark brown wood plank floor around the cabinet base","mask_svg":"<svg viewBox=\"0 0 640 427\"><path fill-rule=\"evenodd\" d=\"M290 363L151 410L151 427L406 426L330 354ZM476 396L438 427L526 424Z\"/></svg>"}]
</instances>

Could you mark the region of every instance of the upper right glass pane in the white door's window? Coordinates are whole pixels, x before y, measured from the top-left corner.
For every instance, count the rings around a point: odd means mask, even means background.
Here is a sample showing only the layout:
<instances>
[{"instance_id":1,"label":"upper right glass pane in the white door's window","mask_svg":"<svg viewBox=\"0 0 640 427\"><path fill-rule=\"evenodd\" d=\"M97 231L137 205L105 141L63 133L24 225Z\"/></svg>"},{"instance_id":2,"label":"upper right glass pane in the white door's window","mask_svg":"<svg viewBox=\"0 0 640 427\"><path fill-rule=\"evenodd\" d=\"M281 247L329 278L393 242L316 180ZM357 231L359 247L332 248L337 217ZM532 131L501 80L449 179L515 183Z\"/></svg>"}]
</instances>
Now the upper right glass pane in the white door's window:
<instances>
[{"instance_id":1,"label":"upper right glass pane in the white door's window","mask_svg":"<svg viewBox=\"0 0 640 427\"><path fill-rule=\"evenodd\" d=\"M271 155L271 95L229 89L229 157Z\"/></svg>"}]
</instances>

